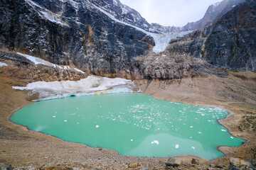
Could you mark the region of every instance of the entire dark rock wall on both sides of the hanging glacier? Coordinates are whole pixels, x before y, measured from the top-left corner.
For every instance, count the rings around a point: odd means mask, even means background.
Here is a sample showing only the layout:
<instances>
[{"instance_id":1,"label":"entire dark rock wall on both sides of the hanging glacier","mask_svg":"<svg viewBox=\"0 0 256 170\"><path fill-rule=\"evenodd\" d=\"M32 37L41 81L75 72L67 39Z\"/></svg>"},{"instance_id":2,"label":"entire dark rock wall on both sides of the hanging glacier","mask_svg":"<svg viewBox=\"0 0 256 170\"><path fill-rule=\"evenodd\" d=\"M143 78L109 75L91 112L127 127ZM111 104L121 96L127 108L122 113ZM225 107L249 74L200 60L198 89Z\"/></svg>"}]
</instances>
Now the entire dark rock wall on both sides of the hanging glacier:
<instances>
[{"instance_id":1,"label":"entire dark rock wall on both sides of the hanging glacier","mask_svg":"<svg viewBox=\"0 0 256 170\"><path fill-rule=\"evenodd\" d=\"M147 35L140 28L146 21L118 0L3 1L0 48L55 64L74 64L87 74L182 79L208 73L225 76L213 72L213 67L255 71L255 1L233 5L223 17L225 10L215 5L210 16L220 17L215 23L171 40L160 54L151 52L155 42L149 35L156 34ZM223 1L226 10L230 1ZM158 24L150 26L161 33L169 31ZM170 31L178 29L170 27Z\"/></svg>"}]
</instances>

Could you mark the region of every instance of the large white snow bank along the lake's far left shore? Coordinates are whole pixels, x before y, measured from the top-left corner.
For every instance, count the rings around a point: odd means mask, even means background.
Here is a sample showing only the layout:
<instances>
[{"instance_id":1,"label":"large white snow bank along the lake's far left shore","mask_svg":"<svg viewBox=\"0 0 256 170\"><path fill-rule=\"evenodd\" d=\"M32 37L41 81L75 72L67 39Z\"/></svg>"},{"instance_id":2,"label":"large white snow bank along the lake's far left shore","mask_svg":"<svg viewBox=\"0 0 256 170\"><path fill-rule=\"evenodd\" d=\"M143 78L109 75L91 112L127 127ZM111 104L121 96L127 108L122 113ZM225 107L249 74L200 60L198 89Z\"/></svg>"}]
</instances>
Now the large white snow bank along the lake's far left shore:
<instances>
[{"instance_id":1,"label":"large white snow bank along the lake's far left shore","mask_svg":"<svg viewBox=\"0 0 256 170\"><path fill-rule=\"evenodd\" d=\"M37 81L27 84L27 86L13 86L13 89L29 90L31 95L38 93L39 98L36 101L72 95L82 96L139 91L131 80L97 76L89 76L79 81Z\"/></svg>"}]
</instances>

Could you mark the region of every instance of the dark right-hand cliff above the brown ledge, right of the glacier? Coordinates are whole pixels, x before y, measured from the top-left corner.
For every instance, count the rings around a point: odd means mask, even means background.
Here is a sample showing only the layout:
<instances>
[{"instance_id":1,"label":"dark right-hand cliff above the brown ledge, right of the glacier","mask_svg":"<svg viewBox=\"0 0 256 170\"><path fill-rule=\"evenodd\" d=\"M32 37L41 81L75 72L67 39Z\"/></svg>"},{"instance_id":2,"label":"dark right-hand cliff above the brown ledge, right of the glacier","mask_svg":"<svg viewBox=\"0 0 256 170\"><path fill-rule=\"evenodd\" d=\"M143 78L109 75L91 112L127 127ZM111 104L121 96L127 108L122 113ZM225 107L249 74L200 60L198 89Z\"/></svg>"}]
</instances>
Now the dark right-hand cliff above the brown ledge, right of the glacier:
<instances>
[{"instance_id":1,"label":"dark right-hand cliff above the brown ledge, right of the glacier","mask_svg":"<svg viewBox=\"0 0 256 170\"><path fill-rule=\"evenodd\" d=\"M255 1L247 1L203 30L171 40L163 55L206 60L221 69L256 70Z\"/></svg>"}]
</instances>

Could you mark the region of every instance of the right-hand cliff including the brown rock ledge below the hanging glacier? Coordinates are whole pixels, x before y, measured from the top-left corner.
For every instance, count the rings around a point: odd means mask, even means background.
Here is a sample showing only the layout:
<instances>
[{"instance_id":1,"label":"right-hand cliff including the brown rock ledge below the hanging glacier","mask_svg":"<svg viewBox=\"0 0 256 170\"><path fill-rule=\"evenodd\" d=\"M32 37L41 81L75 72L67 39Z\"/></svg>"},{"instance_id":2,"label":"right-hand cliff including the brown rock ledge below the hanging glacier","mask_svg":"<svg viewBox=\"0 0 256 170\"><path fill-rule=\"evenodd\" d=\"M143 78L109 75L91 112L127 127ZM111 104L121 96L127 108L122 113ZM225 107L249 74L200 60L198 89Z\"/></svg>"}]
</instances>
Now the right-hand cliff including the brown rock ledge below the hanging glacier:
<instances>
[{"instance_id":1,"label":"right-hand cliff including the brown rock ledge below the hanging glacier","mask_svg":"<svg viewBox=\"0 0 256 170\"><path fill-rule=\"evenodd\" d=\"M213 67L256 71L255 35L256 1L248 0L213 25L171 40L165 52L139 65L148 79L193 77Z\"/></svg>"}]
</instances>

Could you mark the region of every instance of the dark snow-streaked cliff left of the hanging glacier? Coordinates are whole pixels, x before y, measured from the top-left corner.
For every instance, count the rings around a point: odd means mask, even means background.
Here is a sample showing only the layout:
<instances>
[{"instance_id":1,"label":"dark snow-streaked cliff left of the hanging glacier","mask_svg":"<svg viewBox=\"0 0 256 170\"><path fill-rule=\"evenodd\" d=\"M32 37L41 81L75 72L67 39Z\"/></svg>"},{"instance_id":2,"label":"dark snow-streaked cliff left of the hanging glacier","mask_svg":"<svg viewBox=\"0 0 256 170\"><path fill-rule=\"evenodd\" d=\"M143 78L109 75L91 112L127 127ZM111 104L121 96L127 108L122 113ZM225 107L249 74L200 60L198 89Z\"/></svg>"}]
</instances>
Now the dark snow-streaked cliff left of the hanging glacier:
<instances>
[{"instance_id":1,"label":"dark snow-streaked cliff left of the hanging glacier","mask_svg":"<svg viewBox=\"0 0 256 170\"><path fill-rule=\"evenodd\" d=\"M131 78L131 60L154 45L149 35L113 21L90 1L4 0L0 9L1 48L91 74Z\"/></svg>"}]
</instances>

